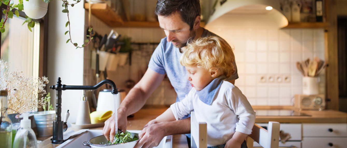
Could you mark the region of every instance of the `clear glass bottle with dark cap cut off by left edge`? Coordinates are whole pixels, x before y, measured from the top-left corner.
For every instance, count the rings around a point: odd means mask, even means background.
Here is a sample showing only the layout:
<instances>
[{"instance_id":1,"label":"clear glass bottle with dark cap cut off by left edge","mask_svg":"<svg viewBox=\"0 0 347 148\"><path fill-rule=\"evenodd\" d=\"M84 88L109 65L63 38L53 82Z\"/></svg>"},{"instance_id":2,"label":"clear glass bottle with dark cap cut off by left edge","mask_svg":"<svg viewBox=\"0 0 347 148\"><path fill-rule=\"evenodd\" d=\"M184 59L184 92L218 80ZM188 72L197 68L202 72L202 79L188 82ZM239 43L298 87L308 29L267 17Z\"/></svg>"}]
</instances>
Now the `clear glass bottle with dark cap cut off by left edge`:
<instances>
[{"instance_id":1,"label":"clear glass bottle with dark cap cut off by left edge","mask_svg":"<svg viewBox=\"0 0 347 148\"><path fill-rule=\"evenodd\" d=\"M7 90L0 90L0 147L12 146L12 122L7 115Z\"/></svg>"}]
</instances>

